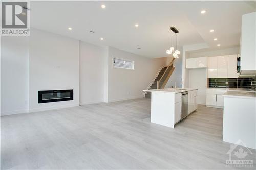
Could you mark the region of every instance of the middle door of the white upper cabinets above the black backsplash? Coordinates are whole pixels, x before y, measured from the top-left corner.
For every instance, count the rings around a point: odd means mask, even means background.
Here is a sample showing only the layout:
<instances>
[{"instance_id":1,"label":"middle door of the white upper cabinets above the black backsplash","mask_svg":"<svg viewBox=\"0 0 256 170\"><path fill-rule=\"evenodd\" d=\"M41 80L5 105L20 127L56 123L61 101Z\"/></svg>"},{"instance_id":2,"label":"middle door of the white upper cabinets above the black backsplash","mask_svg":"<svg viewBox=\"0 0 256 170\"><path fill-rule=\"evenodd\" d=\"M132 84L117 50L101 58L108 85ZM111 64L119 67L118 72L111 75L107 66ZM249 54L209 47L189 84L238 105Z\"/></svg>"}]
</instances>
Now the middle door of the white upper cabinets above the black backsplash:
<instances>
[{"instance_id":1,"label":"middle door of the white upper cabinets above the black backsplash","mask_svg":"<svg viewBox=\"0 0 256 170\"><path fill-rule=\"evenodd\" d=\"M228 56L218 56L218 78L227 78Z\"/></svg>"}]
</instances>

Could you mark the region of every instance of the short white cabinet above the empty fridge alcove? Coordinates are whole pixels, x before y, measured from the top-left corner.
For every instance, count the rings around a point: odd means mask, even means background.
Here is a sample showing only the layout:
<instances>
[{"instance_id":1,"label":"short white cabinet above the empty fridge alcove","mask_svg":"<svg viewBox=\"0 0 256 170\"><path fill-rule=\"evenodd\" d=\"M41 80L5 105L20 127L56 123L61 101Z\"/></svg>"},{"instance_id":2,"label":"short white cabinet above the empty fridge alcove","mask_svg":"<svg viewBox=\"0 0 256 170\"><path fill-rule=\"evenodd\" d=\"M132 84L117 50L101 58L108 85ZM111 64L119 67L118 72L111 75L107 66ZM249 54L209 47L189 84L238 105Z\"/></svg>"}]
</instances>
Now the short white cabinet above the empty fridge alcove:
<instances>
[{"instance_id":1,"label":"short white cabinet above the empty fridge alcove","mask_svg":"<svg viewBox=\"0 0 256 170\"><path fill-rule=\"evenodd\" d=\"M197 57L186 59L186 68L206 68L208 64L208 57Z\"/></svg>"}]
</instances>

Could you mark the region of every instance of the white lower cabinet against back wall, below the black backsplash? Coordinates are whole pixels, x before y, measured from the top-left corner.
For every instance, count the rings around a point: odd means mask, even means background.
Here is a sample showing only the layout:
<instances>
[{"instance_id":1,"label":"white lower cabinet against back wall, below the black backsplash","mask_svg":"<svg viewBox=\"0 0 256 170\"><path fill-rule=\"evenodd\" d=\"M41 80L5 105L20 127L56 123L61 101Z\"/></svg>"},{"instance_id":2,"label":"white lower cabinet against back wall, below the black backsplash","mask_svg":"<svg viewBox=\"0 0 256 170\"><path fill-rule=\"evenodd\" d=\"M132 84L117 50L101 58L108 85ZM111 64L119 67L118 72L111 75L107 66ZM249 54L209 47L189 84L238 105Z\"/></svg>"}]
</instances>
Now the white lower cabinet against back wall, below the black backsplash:
<instances>
[{"instance_id":1,"label":"white lower cabinet against back wall, below the black backsplash","mask_svg":"<svg viewBox=\"0 0 256 170\"><path fill-rule=\"evenodd\" d=\"M207 107L223 107L223 94L227 89L207 89L206 90L206 106Z\"/></svg>"}]
</instances>

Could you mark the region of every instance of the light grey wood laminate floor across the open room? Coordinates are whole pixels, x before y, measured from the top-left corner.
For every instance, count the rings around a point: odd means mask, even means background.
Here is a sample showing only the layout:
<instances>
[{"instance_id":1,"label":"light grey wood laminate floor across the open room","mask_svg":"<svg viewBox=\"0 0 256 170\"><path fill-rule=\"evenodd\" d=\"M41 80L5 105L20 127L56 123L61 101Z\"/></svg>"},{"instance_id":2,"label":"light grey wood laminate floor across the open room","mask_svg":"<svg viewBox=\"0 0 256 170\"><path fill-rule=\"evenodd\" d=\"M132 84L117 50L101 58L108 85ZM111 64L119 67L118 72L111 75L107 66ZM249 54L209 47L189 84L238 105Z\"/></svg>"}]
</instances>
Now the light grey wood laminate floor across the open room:
<instances>
[{"instance_id":1,"label":"light grey wood laminate floor across the open room","mask_svg":"<svg viewBox=\"0 0 256 170\"><path fill-rule=\"evenodd\" d=\"M175 129L151 123L150 110L141 98L3 116L1 169L237 168L225 164L222 109L199 105Z\"/></svg>"}]
</instances>

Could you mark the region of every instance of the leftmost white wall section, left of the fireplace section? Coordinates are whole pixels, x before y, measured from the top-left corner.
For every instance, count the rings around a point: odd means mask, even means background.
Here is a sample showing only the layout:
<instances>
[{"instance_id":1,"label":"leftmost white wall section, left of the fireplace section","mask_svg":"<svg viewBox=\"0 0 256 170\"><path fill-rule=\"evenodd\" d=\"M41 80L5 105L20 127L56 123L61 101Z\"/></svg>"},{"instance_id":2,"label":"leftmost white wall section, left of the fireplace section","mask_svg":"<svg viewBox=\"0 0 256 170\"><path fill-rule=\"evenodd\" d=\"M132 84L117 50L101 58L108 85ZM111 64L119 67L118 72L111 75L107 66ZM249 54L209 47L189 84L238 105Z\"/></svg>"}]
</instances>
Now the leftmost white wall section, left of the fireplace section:
<instances>
[{"instance_id":1,"label":"leftmost white wall section, left of the fireplace section","mask_svg":"<svg viewBox=\"0 0 256 170\"><path fill-rule=\"evenodd\" d=\"M28 111L28 37L1 37L1 115Z\"/></svg>"}]
</instances>

